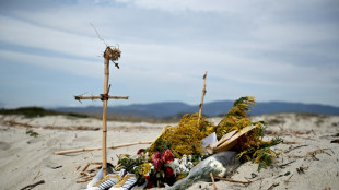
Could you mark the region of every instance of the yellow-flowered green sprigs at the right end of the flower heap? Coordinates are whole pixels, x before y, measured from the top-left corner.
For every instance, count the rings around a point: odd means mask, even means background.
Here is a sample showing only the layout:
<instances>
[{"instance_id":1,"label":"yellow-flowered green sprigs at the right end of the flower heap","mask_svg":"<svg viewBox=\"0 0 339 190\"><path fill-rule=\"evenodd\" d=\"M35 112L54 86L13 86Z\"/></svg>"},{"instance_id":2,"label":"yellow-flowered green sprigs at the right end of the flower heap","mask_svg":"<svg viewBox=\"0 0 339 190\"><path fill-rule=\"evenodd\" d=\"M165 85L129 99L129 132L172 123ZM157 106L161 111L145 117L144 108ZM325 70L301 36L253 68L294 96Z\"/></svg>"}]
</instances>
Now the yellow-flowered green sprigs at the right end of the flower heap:
<instances>
[{"instance_id":1,"label":"yellow-flowered green sprigs at the right end of the flower heap","mask_svg":"<svg viewBox=\"0 0 339 190\"><path fill-rule=\"evenodd\" d=\"M217 136L220 139L233 130L239 131L247 126L256 126L255 129L239 139L239 142L234 149L238 152L237 158L241 162L253 161L258 163L258 170L260 170L272 164L276 158L276 153L270 150L270 146L279 144L282 140L280 138L274 138L271 141L262 140L266 122L252 122L247 117L247 112L252 108L250 105L255 104L255 97L253 96L241 97L235 100L234 107L230 109L223 120L218 124Z\"/></svg>"}]
</instances>

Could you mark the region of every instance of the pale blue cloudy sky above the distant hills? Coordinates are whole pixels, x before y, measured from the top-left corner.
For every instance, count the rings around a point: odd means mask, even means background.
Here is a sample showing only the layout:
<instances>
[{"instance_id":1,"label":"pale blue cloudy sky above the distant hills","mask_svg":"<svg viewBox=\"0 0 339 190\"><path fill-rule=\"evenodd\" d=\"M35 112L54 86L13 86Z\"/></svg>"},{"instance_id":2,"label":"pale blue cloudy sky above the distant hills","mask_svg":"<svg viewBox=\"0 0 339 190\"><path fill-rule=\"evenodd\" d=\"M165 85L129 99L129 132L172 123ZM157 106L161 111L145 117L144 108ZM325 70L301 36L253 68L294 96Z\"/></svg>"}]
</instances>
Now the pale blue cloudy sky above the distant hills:
<instances>
[{"instance_id":1,"label":"pale blue cloudy sky above the distant hills","mask_svg":"<svg viewBox=\"0 0 339 190\"><path fill-rule=\"evenodd\" d=\"M256 96L339 106L338 0L2 0L0 107L90 106L103 92L105 45L110 105Z\"/></svg>"}]
</instances>

